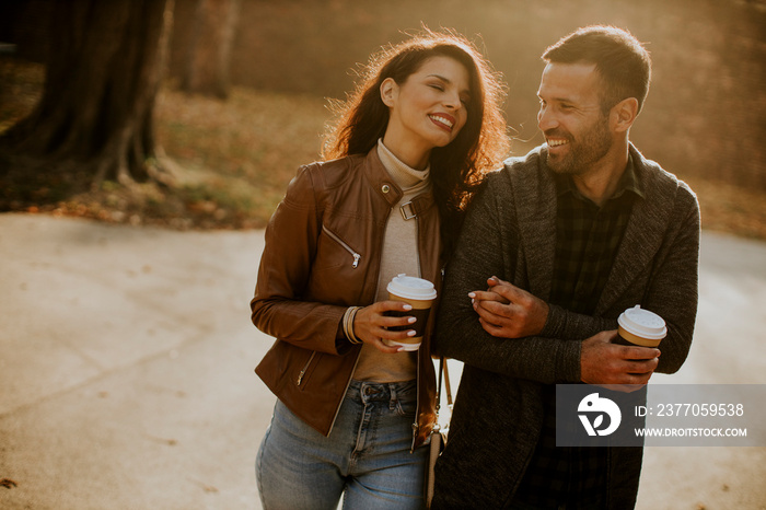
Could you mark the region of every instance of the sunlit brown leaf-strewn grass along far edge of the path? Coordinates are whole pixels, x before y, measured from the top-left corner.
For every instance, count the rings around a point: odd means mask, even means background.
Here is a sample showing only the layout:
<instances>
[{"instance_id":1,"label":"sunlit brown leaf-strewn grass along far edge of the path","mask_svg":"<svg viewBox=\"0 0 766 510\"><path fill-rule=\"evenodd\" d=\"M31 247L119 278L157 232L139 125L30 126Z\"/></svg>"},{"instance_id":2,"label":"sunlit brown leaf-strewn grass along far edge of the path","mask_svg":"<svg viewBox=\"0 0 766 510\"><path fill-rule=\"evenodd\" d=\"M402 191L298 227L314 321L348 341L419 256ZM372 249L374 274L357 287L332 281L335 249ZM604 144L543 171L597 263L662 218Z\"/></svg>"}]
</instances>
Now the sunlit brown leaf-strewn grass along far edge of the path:
<instances>
[{"instance_id":1,"label":"sunlit brown leaf-strewn grass along far edge of the path","mask_svg":"<svg viewBox=\"0 0 766 510\"><path fill-rule=\"evenodd\" d=\"M0 132L34 107L43 80L40 66L0 60ZM175 229L263 228L297 169L318 158L326 104L244 88L220 101L167 84L156 102L156 138L173 162L175 186L127 190L105 182L96 192L62 196L55 183L33 184L39 202L10 209ZM697 193L705 229L766 240L763 192L680 177Z\"/></svg>"}]
</instances>

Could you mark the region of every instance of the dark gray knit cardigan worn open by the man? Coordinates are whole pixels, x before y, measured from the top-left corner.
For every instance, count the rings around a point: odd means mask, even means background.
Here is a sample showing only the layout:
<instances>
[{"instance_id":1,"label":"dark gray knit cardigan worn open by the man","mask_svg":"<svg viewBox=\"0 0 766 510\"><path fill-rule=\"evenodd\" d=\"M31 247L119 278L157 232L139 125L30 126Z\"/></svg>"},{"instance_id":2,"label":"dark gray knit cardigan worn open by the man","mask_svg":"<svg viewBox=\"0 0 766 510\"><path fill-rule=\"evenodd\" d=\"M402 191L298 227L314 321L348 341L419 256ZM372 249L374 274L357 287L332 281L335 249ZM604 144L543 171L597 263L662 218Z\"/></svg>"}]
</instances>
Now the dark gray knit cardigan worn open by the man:
<instances>
[{"instance_id":1,"label":"dark gray knit cardigan worn open by the man","mask_svg":"<svg viewBox=\"0 0 766 510\"><path fill-rule=\"evenodd\" d=\"M556 247L556 185L545 148L510 159L476 197L448 266L436 349L465 366L448 447L437 464L434 508L503 508L537 443L544 384L580 382L581 341L617 328L641 304L669 334L659 372L677 371L697 313L699 207L694 193L630 146L645 198L637 199L593 316L550 306L538 337L484 332L467 293L498 276L548 300ZM608 507L632 508L640 448L610 450Z\"/></svg>"}]
</instances>

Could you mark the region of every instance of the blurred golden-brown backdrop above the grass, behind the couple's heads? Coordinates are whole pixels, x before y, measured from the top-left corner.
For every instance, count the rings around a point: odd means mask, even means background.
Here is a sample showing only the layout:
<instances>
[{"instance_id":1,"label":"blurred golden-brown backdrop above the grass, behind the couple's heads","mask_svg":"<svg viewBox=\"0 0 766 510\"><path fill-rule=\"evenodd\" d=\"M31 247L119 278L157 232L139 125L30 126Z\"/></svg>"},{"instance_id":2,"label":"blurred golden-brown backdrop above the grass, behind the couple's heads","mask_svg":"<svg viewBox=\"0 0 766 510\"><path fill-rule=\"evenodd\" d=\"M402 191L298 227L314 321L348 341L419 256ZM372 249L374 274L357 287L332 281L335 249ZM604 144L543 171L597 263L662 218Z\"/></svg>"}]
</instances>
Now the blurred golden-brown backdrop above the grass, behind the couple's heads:
<instances>
[{"instance_id":1,"label":"blurred golden-brown backdrop above the grass, behind the couple's heads","mask_svg":"<svg viewBox=\"0 0 766 510\"><path fill-rule=\"evenodd\" d=\"M185 47L176 4L171 76ZM357 62L423 22L453 27L509 84L508 121L538 143L539 55L579 26L630 30L648 44L653 82L632 139L676 172L766 190L766 3L741 0L282 0L244 1L232 81L343 97ZM288 62L286 65L286 62ZM517 143L519 150L527 144Z\"/></svg>"}]
</instances>

